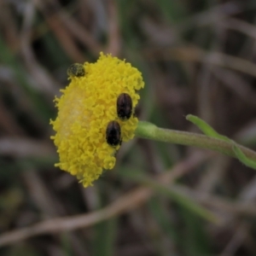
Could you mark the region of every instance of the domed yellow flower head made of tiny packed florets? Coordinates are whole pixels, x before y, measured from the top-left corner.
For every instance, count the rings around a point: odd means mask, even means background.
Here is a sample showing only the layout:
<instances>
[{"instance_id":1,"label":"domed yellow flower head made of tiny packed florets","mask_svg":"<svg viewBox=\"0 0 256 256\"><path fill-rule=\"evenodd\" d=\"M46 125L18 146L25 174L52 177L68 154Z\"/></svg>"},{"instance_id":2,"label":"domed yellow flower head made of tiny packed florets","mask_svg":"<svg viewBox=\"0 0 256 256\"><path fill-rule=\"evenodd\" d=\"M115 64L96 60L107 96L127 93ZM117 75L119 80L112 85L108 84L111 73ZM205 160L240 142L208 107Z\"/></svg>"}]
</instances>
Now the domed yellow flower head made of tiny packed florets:
<instances>
[{"instance_id":1,"label":"domed yellow flower head made of tiny packed florets","mask_svg":"<svg viewBox=\"0 0 256 256\"><path fill-rule=\"evenodd\" d=\"M124 93L131 96L133 111L140 98L137 90L144 83L137 68L102 53L96 63L74 64L67 73L70 84L55 98L58 115L50 121L56 132L51 138L60 156L55 166L77 176L87 187L103 169L115 164L119 144L107 142L108 125L118 125L124 142L134 137L138 120L132 114L119 119L117 99Z\"/></svg>"}]
</instances>

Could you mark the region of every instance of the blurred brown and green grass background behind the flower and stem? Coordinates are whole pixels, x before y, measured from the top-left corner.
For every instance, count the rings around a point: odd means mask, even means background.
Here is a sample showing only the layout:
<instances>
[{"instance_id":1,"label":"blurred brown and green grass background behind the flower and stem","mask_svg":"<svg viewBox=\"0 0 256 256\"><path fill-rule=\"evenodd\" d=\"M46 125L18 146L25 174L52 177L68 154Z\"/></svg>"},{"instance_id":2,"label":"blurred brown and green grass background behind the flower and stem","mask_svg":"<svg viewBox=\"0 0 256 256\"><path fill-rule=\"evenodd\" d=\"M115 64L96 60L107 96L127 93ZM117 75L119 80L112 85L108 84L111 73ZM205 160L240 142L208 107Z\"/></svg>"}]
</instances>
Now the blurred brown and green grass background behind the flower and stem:
<instances>
[{"instance_id":1,"label":"blurred brown and green grass background behind the flower and stem","mask_svg":"<svg viewBox=\"0 0 256 256\"><path fill-rule=\"evenodd\" d=\"M256 2L0 0L0 255L256 255L256 177L238 160L134 139L84 189L54 167L53 99L99 52L143 73L139 119L256 148Z\"/></svg>"}]
</instances>

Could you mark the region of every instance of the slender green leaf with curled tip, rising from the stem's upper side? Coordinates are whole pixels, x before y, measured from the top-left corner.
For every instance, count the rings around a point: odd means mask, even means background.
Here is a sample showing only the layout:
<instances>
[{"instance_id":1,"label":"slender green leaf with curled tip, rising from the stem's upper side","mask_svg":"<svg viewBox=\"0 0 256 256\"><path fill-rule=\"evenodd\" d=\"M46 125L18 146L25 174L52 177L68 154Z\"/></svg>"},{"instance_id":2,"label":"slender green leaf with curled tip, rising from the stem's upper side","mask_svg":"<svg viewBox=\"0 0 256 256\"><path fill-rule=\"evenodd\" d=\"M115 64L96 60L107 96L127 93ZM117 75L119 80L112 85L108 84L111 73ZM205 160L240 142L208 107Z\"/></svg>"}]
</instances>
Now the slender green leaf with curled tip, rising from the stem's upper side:
<instances>
[{"instance_id":1,"label":"slender green leaf with curled tip, rising from the stem's upper side","mask_svg":"<svg viewBox=\"0 0 256 256\"><path fill-rule=\"evenodd\" d=\"M205 135L209 137L215 137L220 140L226 141L226 142L232 142L230 138L225 137L223 135L218 134L217 131L215 131L212 126L208 125L206 121L203 119L200 119L199 117L193 115L193 114L188 114L186 116L186 119L189 120L191 123L196 125Z\"/></svg>"}]
</instances>

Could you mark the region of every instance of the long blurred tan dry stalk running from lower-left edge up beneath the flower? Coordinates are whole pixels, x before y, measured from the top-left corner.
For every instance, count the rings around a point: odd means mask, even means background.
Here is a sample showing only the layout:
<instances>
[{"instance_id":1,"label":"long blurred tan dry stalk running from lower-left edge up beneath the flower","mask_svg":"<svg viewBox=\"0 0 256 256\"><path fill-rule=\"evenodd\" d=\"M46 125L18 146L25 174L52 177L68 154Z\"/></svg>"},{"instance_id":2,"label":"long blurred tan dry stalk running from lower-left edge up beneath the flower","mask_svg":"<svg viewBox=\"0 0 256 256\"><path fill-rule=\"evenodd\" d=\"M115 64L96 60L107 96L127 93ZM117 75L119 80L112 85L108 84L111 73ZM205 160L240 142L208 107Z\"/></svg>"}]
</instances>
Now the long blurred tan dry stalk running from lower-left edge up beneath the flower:
<instances>
[{"instance_id":1,"label":"long blurred tan dry stalk running from lower-left edge up beneath the flower","mask_svg":"<svg viewBox=\"0 0 256 256\"><path fill-rule=\"evenodd\" d=\"M173 183L177 177L182 177L184 173L189 172L196 166L208 159L207 154L192 154L188 159L183 160L172 168L172 172L167 172L160 176L163 183ZM9 231L0 236L0 246L16 243L32 236L38 236L46 233L55 233L67 230L77 230L89 227L106 220L119 216L124 212L129 212L135 207L141 206L153 194L151 189L139 188L133 189L126 195L120 196L119 199L102 210L82 214L75 217L52 218L35 224L32 227L20 230Z\"/></svg>"}]
</instances>

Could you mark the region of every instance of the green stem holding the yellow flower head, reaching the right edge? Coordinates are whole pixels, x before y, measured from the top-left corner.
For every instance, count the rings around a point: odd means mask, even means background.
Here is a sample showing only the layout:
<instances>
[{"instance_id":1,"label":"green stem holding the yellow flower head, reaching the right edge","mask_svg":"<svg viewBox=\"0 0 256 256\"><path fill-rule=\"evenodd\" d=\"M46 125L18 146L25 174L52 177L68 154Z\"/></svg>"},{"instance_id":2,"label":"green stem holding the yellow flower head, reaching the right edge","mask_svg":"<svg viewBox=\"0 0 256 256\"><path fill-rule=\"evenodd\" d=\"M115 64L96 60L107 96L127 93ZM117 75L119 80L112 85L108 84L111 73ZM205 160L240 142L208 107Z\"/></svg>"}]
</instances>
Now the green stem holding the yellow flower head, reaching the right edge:
<instances>
[{"instance_id":1,"label":"green stem holding the yellow flower head, reaching the right edge","mask_svg":"<svg viewBox=\"0 0 256 256\"><path fill-rule=\"evenodd\" d=\"M137 125L135 135L158 142L206 148L237 158L233 150L234 143L193 132L163 129L151 123L140 121ZM256 160L256 152L239 144L236 145L248 159Z\"/></svg>"}]
</instances>

